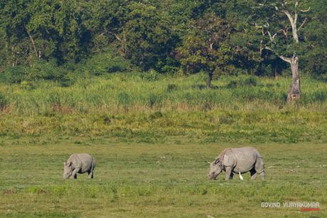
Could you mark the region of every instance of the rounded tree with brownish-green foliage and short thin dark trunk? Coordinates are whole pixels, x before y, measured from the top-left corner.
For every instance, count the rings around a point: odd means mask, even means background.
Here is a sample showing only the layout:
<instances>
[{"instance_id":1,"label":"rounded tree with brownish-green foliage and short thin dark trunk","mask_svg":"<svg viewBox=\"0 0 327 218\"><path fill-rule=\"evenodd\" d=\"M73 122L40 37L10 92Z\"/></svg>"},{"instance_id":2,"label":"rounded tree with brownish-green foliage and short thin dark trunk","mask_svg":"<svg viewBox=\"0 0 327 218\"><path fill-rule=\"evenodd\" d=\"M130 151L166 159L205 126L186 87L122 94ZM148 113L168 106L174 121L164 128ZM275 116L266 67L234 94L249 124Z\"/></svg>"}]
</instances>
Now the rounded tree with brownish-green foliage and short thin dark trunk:
<instances>
[{"instance_id":1,"label":"rounded tree with brownish-green foliage and short thin dark trunk","mask_svg":"<svg viewBox=\"0 0 327 218\"><path fill-rule=\"evenodd\" d=\"M177 57L186 73L207 71L207 88L210 88L214 72L230 61L231 50L227 41L232 24L208 13L195 20L192 29L184 38L182 46L177 48Z\"/></svg>"}]
</instances>

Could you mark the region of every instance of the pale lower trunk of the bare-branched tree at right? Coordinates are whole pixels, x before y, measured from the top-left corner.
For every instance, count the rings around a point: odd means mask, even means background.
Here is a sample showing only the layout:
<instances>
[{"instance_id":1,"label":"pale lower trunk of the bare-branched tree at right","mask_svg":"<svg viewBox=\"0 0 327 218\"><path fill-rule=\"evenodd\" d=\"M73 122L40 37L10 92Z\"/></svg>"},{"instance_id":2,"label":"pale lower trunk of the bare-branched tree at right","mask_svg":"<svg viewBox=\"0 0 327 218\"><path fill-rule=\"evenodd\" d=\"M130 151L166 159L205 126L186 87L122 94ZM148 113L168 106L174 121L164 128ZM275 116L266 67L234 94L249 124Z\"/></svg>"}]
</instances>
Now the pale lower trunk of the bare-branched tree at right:
<instances>
[{"instance_id":1,"label":"pale lower trunk of the bare-branched tree at right","mask_svg":"<svg viewBox=\"0 0 327 218\"><path fill-rule=\"evenodd\" d=\"M284 56L279 56L283 61L291 64L292 71L292 85L289 88L289 93L287 93L287 101L299 100L301 89L300 89L300 76L299 76L299 57L293 56L292 58L286 58Z\"/></svg>"}]
</instances>

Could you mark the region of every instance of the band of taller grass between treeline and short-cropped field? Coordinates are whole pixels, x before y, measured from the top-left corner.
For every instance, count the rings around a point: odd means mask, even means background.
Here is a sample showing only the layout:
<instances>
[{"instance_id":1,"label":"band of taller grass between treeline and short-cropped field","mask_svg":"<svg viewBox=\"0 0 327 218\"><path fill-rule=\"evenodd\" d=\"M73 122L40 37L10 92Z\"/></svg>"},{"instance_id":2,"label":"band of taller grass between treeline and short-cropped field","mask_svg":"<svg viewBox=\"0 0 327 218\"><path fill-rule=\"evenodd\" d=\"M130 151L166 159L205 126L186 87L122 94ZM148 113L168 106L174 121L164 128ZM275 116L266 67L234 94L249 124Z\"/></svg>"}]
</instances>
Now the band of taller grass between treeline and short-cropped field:
<instances>
[{"instance_id":1,"label":"band of taller grass between treeline and short-cropped field","mask_svg":"<svg viewBox=\"0 0 327 218\"><path fill-rule=\"evenodd\" d=\"M69 87L38 81L0 86L0 135L118 137L157 142L326 142L327 85L303 78L299 102L286 103L289 78L116 73Z\"/></svg>"}]
</instances>

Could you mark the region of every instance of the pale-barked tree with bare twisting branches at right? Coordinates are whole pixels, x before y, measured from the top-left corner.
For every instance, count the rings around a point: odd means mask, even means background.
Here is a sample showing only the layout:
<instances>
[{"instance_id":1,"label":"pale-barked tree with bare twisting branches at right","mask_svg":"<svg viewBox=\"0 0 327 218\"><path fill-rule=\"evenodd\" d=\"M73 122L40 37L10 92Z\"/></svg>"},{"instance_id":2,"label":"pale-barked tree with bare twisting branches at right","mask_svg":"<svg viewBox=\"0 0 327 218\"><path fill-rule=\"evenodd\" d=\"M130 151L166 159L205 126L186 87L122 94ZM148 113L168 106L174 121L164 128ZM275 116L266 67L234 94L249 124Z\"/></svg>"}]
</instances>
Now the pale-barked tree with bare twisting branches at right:
<instances>
[{"instance_id":1,"label":"pale-barked tree with bare twisting branches at right","mask_svg":"<svg viewBox=\"0 0 327 218\"><path fill-rule=\"evenodd\" d=\"M269 4L259 4L261 18L265 17L264 24L255 24L256 28L261 29L262 36L264 36L260 44L260 51L264 49L272 51L281 60L291 65L292 84L287 95L288 102L299 100L301 94L299 53L304 48L304 39L300 40L299 31L306 24L307 19L303 19L300 13L307 12L309 9L301 10L298 0L271 1ZM302 19L301 23L300 19ZM291 36L289 36L289 31L291 31Z\"/></svg>"}]
</instances>

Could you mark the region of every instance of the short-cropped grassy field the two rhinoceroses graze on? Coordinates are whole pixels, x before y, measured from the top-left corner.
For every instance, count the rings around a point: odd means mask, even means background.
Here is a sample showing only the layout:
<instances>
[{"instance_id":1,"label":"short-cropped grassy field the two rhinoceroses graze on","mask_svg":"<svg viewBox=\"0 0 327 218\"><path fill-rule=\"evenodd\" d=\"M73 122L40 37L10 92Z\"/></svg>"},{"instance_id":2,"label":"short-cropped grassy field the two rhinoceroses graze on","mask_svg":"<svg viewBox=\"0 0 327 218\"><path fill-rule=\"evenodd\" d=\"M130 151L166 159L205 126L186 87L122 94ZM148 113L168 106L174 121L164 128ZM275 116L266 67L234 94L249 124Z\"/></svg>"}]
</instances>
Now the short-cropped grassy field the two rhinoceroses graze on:
<instances>
[{"instance_id":1,"label":"short-cropped grassy field the two rhinoceroses graze on","mask_svg":"<svg viewBox=\"0 0 327 218\"><path fill-rule=\"evenodd\" d=\"M76 143L78 142L78 143ZM246 144L160 143L115 139L5 140L0 147L0 217L326 217L324 143L252 144L266 162L266 181L207 180L224 147ZM95 178L62 179L63 161L88 152ZM320 212L261 208L261 202L319 202Z\"/></svg>"}]
</instances>

